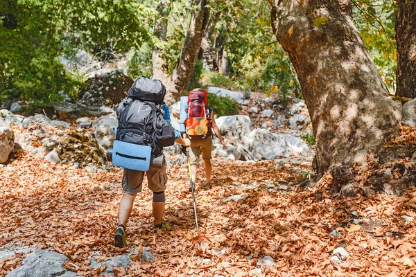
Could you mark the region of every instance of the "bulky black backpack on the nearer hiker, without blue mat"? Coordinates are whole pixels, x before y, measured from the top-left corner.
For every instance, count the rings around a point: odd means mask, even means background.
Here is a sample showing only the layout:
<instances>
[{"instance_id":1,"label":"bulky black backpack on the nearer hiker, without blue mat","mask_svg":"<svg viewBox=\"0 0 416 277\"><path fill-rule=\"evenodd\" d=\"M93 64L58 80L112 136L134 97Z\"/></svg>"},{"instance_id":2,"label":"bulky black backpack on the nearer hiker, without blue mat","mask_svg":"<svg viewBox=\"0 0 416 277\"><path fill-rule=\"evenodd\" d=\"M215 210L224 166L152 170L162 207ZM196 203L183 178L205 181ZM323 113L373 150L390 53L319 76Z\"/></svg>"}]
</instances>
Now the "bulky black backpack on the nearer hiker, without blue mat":
<instances>
[{"instance_id":1,"label":"bulky black backpack on the nearer hiker, without blue mat","mask_svg":"<svg viewBox=\"0 0 416 277\"><path fill-rule=\"evenodd\" d=\"M119 119L116 140L150 146L155 156L162 153L163 147L173 145L175 129L164 119L165 94L159 80L137 78L116 109Z\"/></svg>"}]
</instances>

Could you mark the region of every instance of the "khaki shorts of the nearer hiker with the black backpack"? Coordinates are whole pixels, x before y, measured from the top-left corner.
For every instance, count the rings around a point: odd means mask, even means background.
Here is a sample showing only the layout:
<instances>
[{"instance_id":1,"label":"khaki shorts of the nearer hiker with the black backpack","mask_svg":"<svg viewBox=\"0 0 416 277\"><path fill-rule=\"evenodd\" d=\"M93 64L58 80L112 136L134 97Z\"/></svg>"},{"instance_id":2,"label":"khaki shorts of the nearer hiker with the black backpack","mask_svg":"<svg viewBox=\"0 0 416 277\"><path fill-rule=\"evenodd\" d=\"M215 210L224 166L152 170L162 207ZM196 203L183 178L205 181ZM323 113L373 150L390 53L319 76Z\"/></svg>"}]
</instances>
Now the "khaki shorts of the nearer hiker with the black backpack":
<instances>
[{"instance_id":1,"label":"khaki shorts of the nearer hiker with the black backpack","mask_svg":"<svg viewBox=\"0 0 416 277\"><path fill-rule=\"evenodd\" d=\"M168 182L166 165L163 165L162 168L150 168L148 172L125 168L123 171L123 181L121 181L121 186L123 187L125 194L134 195L141 192L144 173L147 175L148 188L152 190L153 193L166 190L166 183Z\"/></svg>"}]
</instances>

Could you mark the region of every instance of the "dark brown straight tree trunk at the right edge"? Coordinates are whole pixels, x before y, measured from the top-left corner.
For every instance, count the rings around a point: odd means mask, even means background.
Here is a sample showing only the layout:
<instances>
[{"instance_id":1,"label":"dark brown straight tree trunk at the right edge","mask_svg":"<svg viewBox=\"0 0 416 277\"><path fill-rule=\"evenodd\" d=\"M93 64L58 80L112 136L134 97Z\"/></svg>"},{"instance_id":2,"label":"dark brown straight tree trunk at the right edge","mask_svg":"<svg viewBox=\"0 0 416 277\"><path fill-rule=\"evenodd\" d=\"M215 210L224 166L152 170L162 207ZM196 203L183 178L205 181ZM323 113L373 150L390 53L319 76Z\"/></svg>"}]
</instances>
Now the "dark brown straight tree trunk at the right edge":
<instances>
[{"instance_id":1,"label":"dark brown straight tree trunk at the right edge","mask_svg":"<svg viewBox=\"0 0 416 277\"><path fill-rule=\"evenodd\" d=\"M397 95L416 98L416 1L398 0L395 12Z\"/></svg>"}]
</instances>

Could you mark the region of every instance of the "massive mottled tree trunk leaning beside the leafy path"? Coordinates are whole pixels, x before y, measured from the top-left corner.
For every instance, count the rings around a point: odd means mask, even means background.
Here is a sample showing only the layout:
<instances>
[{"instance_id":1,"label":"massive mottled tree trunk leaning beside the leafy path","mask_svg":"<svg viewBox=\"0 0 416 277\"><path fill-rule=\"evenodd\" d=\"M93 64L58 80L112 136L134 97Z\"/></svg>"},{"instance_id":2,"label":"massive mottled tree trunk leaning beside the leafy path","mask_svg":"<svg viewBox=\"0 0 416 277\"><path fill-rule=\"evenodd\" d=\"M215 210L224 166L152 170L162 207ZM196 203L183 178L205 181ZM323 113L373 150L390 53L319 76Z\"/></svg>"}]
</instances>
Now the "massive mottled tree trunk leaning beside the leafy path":
<instances>
[{"instance_id":1,"label":"massive mottled tree trunk leaning beside the leafy path","mask_svg":"<svg viewBox=\"0 0 416 277\"><path fill-rule=\"evenodd\" d=\"M400 106L388 91L350 14L349 1L268 0L272 27L302 86L316 138L318 175L354 182L398 132Z\"/></svg>"}]
</instances>

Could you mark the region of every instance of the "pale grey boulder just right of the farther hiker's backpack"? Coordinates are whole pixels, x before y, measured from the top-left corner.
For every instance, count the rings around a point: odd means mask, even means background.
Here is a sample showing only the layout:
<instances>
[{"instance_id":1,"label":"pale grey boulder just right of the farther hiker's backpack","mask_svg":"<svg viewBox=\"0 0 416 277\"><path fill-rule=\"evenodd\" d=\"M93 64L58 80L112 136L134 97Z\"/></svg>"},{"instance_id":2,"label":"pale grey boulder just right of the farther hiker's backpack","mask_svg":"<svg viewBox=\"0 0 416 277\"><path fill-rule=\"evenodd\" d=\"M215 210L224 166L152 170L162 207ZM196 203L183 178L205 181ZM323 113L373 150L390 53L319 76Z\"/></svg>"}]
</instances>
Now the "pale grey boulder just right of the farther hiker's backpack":
<instances>
[{"instance_id":1,"label":"pale grey boulder just right of the farther hiker's backpack","mask_svg":"<svg viewBox=\"0 0 416 277\"><path fill-rule=\"evenodd\" d=\"M223 136L230 134L237 139L243 139L250 134L251 120L248 116L220 116L216 119L216 123Z\"/></svg>"}]
</instances>

